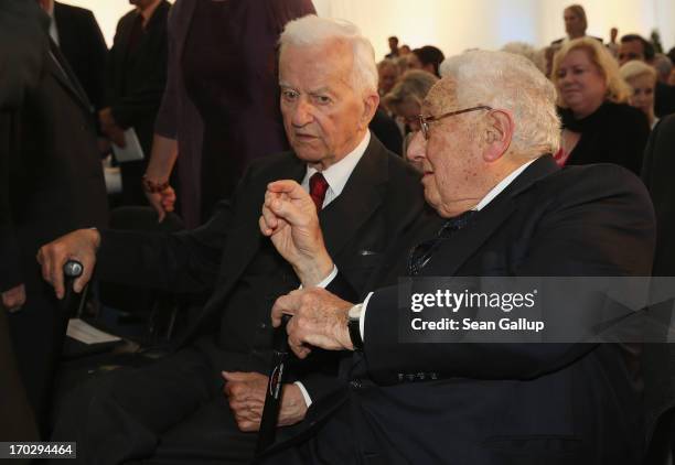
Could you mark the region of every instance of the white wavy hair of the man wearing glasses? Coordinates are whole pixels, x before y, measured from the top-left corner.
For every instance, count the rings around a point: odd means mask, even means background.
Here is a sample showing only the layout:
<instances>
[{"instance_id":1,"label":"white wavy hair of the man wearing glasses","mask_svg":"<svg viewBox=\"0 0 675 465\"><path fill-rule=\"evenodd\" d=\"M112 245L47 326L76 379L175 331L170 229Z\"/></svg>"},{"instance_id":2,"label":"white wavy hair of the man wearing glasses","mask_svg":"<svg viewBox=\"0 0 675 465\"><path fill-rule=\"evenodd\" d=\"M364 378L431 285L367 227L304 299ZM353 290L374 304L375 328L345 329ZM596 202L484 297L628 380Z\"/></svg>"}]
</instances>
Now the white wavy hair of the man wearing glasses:
<instances>
[{"instance_id":1,"label":"white wavy hair of the man wearing glasses","mask_svg":"<svg viewBox=\"0 0 675 465\"><path fill-rule=\"evenodd\" d=\"M558 150L556 88L529 60L506 52L471 51L446 60L440 74L456 80L454 97L462 107L488 105L513 113L514 153L537 156Z\"/></svg>"}]
</instances>

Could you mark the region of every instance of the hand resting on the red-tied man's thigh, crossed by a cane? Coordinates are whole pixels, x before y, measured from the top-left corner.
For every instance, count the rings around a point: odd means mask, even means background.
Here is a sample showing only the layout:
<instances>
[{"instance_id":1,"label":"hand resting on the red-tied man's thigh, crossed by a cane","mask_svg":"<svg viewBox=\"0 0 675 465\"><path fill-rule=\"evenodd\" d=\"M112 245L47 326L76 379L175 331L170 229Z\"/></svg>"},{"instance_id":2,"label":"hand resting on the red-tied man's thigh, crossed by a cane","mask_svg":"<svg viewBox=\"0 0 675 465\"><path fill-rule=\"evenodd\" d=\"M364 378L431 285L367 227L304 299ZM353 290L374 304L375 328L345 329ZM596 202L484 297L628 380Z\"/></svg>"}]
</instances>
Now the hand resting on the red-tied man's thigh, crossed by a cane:
<instances>
[{"instance_id":1,"label":"hand resting on the red-tied man's thigh, crossed by a cane","mask_svg":"<svg viewBox=\"0 0 675 465\"><path fill-rule=\"evenodd\" d=\"M260 430L268 377L258 372L223 371L223 378L226 381L223 391L227 396L239 430ZM304 419L306 413L307 403L300 388L296 385L283 385L277 425L288 426L298 423Z\"/></svg>"}]
</instances>

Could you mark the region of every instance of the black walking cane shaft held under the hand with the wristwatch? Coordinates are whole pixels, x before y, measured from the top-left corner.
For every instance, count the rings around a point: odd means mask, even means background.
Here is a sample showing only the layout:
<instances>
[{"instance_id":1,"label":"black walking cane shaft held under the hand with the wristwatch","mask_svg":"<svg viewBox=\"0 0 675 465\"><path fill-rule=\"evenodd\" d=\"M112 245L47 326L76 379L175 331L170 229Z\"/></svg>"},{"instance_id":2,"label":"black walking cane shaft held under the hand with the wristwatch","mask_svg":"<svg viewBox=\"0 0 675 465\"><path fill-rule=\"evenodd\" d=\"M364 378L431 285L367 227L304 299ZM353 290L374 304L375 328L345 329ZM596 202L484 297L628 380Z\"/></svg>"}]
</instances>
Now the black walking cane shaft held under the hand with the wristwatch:
<instances>
[{"instance_id":1,"label":"black walking cane shaft held under the hand with the wristwatch","mask_svg":"<svg viewBox=\"0 0 675 465\"><path fill-rule=\"evenodd\" d=\"M256 455L269 447L275 442L277 434L277 421L279 420L279 408L281 407L281 388L286 376L286 365L288 361L288 335L286 325L291 318L290 315L281 316L281 326L275 331L272 344L272 364L267 382L267 393L265 394L265 407L260 419L260 432L256 444Z\"/></svg>"}]
</instances>

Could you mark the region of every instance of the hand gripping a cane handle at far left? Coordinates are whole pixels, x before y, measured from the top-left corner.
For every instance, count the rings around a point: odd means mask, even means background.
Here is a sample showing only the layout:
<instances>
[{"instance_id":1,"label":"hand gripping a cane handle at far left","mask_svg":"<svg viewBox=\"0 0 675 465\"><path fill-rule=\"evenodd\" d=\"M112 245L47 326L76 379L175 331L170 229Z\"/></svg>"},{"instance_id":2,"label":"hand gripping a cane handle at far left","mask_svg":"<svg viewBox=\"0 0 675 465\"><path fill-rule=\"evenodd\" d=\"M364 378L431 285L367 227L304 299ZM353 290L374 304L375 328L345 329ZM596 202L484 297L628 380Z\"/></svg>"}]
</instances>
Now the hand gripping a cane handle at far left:
<instances>
[{"instance_id":1,"label":"hand gripping a cane handle at far left","mask_svg":"<svg viewBox=\"0 0 675 465\"><path fill-rule=\"evenodd\" d=\"M73 283L75 292L82 292L94 273L96 250L100 245L100 234L96 229L78 229L42 246L38 251L38 262L42 266L42 278L54 286L56 298L65 294L63 266L68 260L77 260L83 272Z\"/></svg>"}]
</instances>

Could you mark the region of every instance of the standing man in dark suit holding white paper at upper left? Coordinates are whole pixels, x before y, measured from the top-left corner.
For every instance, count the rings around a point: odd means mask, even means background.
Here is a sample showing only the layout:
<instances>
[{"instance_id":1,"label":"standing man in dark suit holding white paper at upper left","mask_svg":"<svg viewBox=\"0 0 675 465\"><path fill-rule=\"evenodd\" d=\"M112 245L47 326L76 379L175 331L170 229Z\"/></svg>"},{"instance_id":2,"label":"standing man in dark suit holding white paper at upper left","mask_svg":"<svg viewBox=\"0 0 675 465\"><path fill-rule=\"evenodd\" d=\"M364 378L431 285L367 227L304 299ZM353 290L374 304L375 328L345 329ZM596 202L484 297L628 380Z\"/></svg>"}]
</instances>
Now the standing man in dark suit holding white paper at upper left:
<instances>
[{"instance_id":1,"label":"standing man in dark suit holding white paper at upper left","mask_svg":"<svg viewBox=\"0 0 675 465\"><path fill-rule=\"evenodd\" d=\"M126 145L124 131L133 128L146 160L120 163L122 203L144 205L141 179L167 86L167 23L171 4L167 0L131 2L136 9L119 20L108 54L104 108L98 115L101 130L117 145Z\"/></svg>"}]
</instances>

